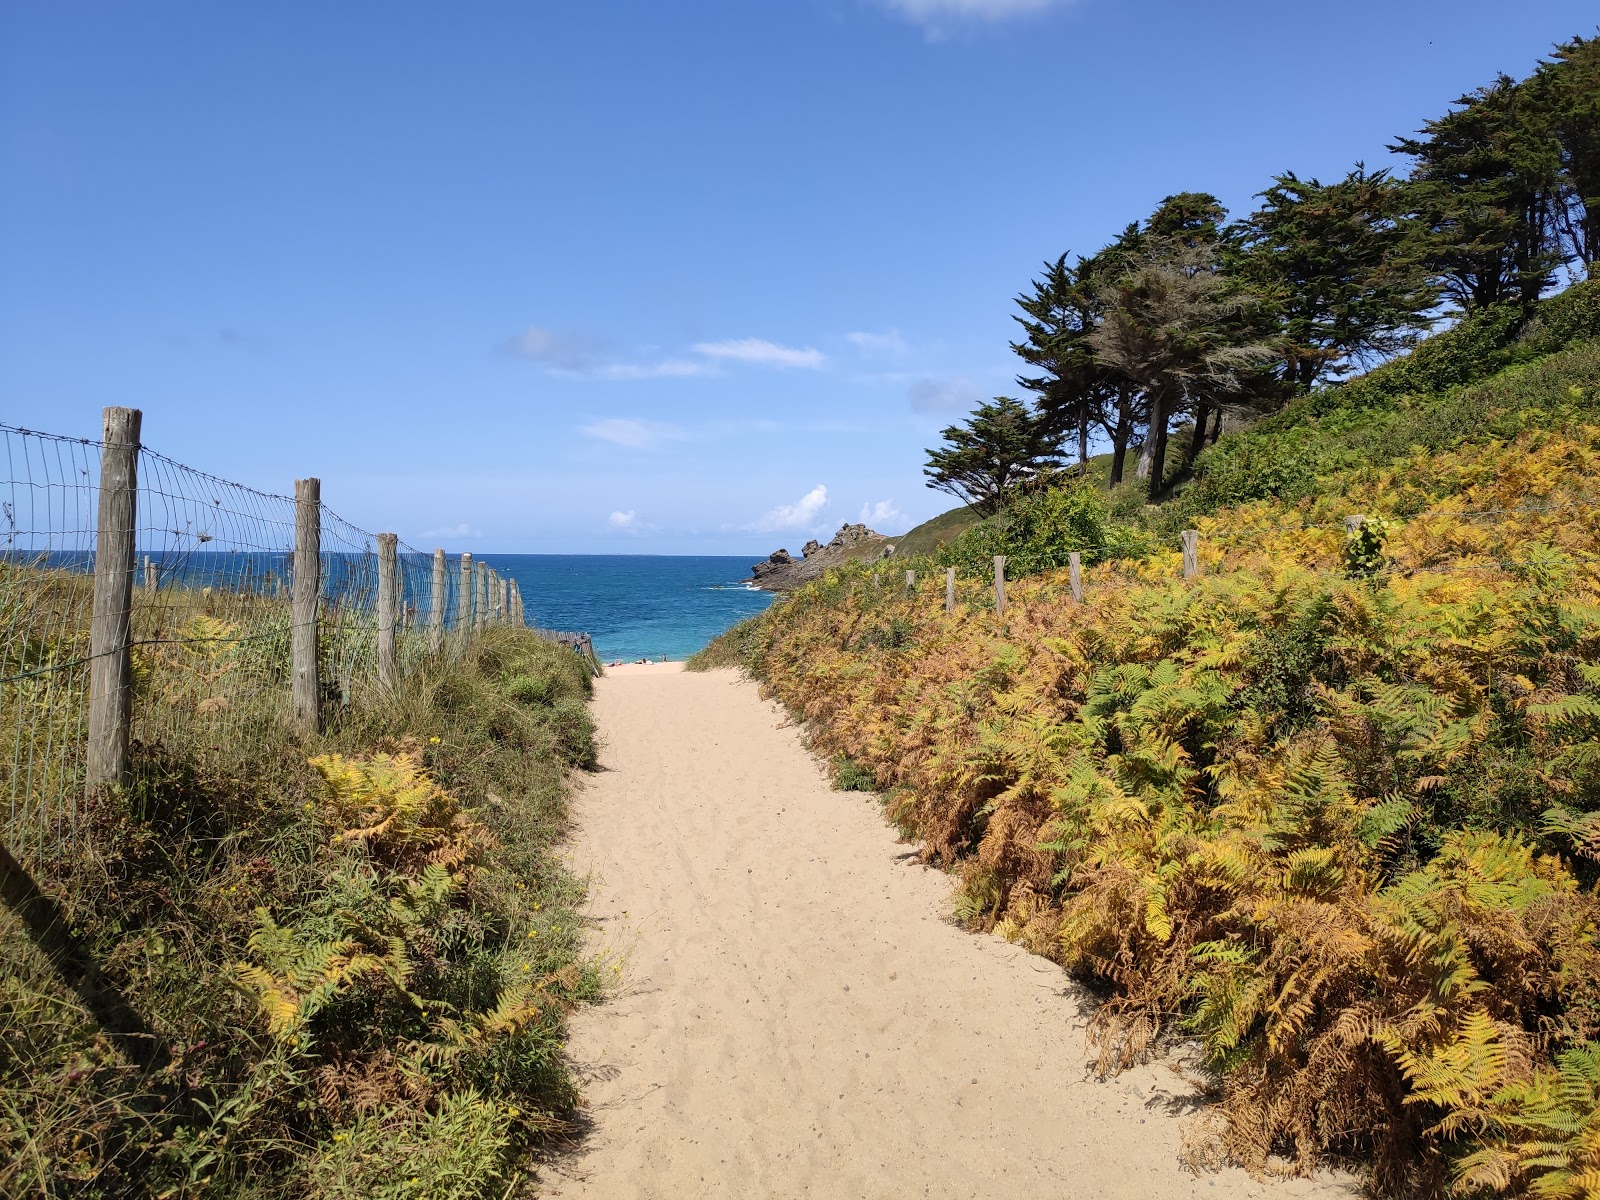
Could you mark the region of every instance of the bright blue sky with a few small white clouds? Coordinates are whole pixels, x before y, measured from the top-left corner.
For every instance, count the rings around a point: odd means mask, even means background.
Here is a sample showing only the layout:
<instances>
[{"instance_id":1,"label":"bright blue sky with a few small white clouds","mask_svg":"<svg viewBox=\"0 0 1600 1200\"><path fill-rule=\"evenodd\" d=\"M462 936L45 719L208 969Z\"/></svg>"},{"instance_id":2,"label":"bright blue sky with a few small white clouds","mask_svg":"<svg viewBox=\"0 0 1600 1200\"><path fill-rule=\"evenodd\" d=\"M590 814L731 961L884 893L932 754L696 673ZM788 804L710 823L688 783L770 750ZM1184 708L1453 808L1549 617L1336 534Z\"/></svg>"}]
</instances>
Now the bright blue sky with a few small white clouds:
<instances>
[{"instance_id":1,"label":"bright blue sky with a few small white clouds","mask_svg":"<svg viewBox=\"0 0 1600 1200\"><path fill-rule=\"evenodd\" d=\"M1178 190L1382 165L1525 0L0 3L0 419L451 550L949 507L1011 298Z\"/></svg>"}]
</instances>

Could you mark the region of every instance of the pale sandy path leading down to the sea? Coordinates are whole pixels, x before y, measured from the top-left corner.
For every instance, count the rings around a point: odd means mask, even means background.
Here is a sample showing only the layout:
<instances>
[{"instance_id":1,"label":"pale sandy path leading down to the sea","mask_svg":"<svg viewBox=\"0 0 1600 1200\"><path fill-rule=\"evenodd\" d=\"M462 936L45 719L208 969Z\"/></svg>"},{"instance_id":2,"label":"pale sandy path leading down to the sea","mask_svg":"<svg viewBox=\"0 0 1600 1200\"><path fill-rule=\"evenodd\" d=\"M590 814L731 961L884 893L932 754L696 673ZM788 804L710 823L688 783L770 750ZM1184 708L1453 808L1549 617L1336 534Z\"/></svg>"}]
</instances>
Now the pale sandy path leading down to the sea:
<instances>
[{"instance_id":1,"label":"pale sandy path leading down to the sea","mask_svg":"<svg viewBox=\"0 0 1600 1200\"><path fill-rule=\"evenodd\" d=\"M594 1126L547 1195L1354 1197L1176 1160L1190 1090L1085 1078L1062 973L944 918L878 806L731 672L613 669L570 858L626 955L573 1022Z\"/></svg>"}]
</instances>

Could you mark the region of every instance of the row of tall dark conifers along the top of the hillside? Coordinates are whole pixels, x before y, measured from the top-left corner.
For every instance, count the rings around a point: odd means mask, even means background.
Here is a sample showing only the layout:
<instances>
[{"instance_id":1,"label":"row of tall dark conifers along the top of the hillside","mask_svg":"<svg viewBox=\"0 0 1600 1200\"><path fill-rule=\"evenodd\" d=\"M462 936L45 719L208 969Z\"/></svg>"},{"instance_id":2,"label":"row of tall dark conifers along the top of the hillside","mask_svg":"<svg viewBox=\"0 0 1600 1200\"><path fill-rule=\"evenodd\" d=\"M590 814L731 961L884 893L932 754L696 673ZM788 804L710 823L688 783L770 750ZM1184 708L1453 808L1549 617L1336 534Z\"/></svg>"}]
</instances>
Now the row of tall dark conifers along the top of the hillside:
<instances>
[{"instance_id":1,"label":"row of tall dark conifers along the top of the hillside","mask_svg":"<svg viewBox=\"0 0 1600 1200\"><path fill-rule=\"evenodd\" d=\"M1011 347L1034 400L1006 403L1051 437L1018 474L1070 442L1086 466L1099 442L1115 486L1136 445L1154 502L1190 477L1226 414L1317 395L1440 322L1474 325L1490 352L1512 344L1562 272L1576 278L1600 253L1597 94L1600 40L1573 38L1526 78L1501 77L1397 139L1403 176L1285 171L1232 221L1214 197L1178 192L1093 254L1046 262L1016 298ZM974 429L952 448L992 450ZM930 451L930 466L947 453Z\"/></svg>"}]
</instances>

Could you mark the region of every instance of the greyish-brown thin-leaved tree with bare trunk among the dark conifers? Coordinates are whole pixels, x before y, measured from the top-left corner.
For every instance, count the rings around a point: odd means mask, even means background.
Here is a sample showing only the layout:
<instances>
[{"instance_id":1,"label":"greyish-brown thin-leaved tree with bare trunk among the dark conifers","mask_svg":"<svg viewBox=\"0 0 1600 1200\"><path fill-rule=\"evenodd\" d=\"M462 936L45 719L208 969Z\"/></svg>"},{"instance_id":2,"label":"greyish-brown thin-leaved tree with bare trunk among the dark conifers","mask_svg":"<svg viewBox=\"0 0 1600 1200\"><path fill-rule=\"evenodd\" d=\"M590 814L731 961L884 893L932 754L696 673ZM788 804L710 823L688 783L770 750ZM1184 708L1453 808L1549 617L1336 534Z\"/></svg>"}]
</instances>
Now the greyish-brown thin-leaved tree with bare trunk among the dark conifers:
<instances>
[{"instance_id":1,"label":"greyish-brown thin-leaved tree with bare trunk among the dark conifers","mask_svg":"<svg viewBox=\"0 0 1600 1200\"><path fill-rule=\"evenodd\" d=\"M1277 346L1250 320L1254 296L1216 264L1203 238L1149 237L1144 258L1101 288L1104 320L1090 334L1099 362L1144 394L1149 427L1139 477L1149 499L1166 478L1166 438L1174 416L1195 413L1192 446L1206 413L1229 395L1245 395Z\"/></svg>"}]
</instances>

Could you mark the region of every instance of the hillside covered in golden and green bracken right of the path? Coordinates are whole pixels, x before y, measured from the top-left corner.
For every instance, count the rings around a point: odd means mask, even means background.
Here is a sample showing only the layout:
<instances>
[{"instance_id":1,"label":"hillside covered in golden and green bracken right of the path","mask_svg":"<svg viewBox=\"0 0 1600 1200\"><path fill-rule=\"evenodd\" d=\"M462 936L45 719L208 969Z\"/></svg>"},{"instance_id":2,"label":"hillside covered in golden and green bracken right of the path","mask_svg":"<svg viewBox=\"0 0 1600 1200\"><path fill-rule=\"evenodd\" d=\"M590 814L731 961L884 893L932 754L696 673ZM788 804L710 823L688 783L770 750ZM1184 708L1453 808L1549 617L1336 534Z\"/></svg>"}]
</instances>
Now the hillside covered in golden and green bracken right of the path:
<instances>
[{"instance_id":1,"label":"hillside covered in golden and green bracken right of the path","mask_svg":"<svg viewBox=\"0 0 1600 1200\"><path fill-rule=\"evenodd\" d=\"M954 613L837 571L702 662L870 778L963 922L1101 989L1104 1072L1200 1038L1214 1154L1589 1195L1595 309L1472 318L1224 437L1166 506L1035 523L1101 538L1083 603L1046 566L997 619L947 547Z\"/></svg>"}]
</instances>

